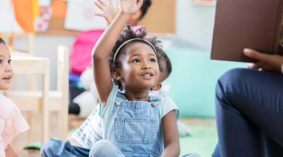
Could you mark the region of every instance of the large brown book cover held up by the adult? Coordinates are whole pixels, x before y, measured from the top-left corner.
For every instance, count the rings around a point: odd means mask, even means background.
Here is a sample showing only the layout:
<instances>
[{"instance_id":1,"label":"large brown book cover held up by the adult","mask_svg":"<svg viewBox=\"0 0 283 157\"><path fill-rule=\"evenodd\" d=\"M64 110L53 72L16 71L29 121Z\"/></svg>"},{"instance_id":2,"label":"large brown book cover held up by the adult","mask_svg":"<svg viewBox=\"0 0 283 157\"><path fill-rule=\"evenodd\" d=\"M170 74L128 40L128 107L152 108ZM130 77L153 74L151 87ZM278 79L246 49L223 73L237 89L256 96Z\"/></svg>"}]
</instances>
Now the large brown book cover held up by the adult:
<instances>
[{"instance_id":1,"label":"large brown book cover held up by the adult","mask_svg":"<svg viewBox=\"0 0 283 157\"><path fill-rule=\"evenodd\" d=\"M244 48L283 54L282 5L283 0L217 0L211 59L255 62Z\"/></svg>"}]
</instances>

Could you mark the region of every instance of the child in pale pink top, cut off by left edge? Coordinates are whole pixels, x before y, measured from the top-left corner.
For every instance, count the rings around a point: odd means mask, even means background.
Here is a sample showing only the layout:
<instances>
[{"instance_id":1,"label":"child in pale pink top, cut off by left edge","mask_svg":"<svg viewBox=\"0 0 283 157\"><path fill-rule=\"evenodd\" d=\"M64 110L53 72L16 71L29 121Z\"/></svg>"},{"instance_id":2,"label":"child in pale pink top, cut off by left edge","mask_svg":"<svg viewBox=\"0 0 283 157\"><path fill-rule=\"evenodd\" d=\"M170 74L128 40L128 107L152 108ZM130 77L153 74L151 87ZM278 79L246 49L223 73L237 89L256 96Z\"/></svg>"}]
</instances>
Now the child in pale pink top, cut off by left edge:
<instances>
[{"instance_id":1,"label":"child in pale pink top, cut off by left edge","mask_svg":"<svg viewBox=\"0 0 283 157\"><path fill-rule=\"evenodd\" d=\"M13 78L11 55L5 41L0 37L0 90L7 90ZM15 103L0 95L0 157L15 157L10 142L20 132L27 131L29 125Z\"/></svg>"}]
</instances>

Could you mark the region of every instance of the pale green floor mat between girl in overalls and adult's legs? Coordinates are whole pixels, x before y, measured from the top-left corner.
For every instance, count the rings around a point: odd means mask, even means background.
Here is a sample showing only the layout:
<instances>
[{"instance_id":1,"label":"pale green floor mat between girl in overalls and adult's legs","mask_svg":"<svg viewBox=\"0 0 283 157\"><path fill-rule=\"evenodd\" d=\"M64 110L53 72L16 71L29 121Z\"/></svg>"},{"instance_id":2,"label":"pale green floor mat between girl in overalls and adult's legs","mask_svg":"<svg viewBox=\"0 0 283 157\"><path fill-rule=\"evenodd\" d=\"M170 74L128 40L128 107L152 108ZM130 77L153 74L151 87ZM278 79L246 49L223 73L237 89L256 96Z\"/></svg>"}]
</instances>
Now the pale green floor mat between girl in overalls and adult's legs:
<instances>
[{"instance_id":1,"label":"pale green floor mat between girl in overalls and adult's legs","mask_svg":"<svg viewBox=\"0 0 283 157\"><path fill-rule=\"evenodd\" d=\"M180 138L181 154L198 153L202 157L210 157L217 144L216 128L191 127L192 135Z\"/></svg>"}]
</instances>

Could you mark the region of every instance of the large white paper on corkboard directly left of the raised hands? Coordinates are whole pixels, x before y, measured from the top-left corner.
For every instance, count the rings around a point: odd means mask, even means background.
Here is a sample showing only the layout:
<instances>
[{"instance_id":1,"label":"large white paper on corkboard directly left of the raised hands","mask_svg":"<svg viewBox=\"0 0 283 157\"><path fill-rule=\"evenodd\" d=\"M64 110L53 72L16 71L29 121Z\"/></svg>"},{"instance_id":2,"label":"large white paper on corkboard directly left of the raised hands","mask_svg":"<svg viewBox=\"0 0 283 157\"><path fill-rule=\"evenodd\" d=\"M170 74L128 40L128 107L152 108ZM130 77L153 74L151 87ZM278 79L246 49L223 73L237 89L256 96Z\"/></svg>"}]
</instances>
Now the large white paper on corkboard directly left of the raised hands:
<instances>
[{"instance_id":1,"label":"large white paper on corkboard directly left of the raised hands","mask_svg":"<svg viewBox=\"0 0 283 157\"><path fill-rule=\"evenodd\" d=\"M108 0L103 1L108 4ZM113 1L113 4L115 3L117 0ZM104 17L95 16L94 13L102 13L94 4L94 0L68 0L65 29L75 31L106 29L107 21Z\"/></svg>"}]
</instances>

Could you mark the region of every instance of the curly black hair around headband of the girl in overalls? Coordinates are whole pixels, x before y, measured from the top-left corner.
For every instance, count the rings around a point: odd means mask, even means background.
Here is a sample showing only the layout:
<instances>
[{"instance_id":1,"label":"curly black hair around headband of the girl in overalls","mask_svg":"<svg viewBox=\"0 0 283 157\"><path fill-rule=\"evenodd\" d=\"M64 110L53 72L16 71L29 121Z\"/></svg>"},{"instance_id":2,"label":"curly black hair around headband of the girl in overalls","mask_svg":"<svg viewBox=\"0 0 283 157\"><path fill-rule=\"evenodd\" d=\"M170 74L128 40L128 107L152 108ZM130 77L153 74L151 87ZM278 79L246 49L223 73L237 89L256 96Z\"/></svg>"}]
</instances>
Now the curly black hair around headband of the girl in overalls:
<instances>
[{"instance_id":1,"label":"curly black hair around headband of the girl in overalls","mask_svg":"<svg viewBox=\"0 0 283 157\"><path fill-rule=\"evenodd\" d=\"M130 39L134 39L134 38L146 39L156 49L157 61L160 59L160 53L162 52L162 50L161 50L162 49L162 42L160 40L157 40L156 37L146 38L146 35L147 35L146 28L141 27L141 28L137 29L136 31L133 31L131 29L131 27L129 25L127 25L125 27L125 29L121 32L121 35L119 36L118 40L116 41L116 44L113 47L111 53L108 55L108 65L109 65L110 72L111 72L112 82L115 85L117 85L120 90L123 90L123 86L122 86L122 84L119 80L115 80L113 78L113 69L121 67L121 58L125 55L125 49L128 46L132 45L133 43L139 42L139 43L145 43L147 45L149 45L149 43L147 43L146 41L142 41L142 40L133 40L133 41L127 43L126 45L124 45L119 50L119 52L116 55L115 62L113 63L113 58L114 58L115 52L117 51L117 49L120 45L122 45L126 41L128 41ZM158 65L160 67L159 63L158 63ZM160 71L162 71L162 69L160 69Z\"/></svg>"}]
</instances>

